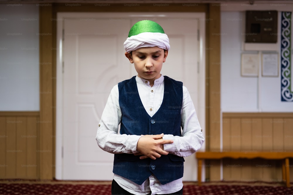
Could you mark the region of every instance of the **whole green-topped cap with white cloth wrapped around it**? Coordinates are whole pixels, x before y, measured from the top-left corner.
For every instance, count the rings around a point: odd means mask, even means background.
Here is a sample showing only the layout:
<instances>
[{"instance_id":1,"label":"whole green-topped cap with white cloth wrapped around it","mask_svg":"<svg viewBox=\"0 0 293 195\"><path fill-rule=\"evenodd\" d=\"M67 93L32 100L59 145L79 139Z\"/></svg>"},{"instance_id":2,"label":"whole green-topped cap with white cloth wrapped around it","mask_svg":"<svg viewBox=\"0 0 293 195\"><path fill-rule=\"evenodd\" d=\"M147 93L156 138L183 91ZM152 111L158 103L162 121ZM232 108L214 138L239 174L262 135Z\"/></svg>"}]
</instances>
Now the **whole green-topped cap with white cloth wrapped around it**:
<instances>
[{"instance_id":1,"label":"whole green-topped cap with white cloth wrapped around it","mask_svg":"<svg viewBox=\"0 0 293 195\"><path fill-rule=\"evenodd\" d=\"M151 20L142 20L135 23L124 42L124 49L128 53L141 47L155 46L167 51L170 49L167 34L158 23Z\"/></svg>"}]
</instances>

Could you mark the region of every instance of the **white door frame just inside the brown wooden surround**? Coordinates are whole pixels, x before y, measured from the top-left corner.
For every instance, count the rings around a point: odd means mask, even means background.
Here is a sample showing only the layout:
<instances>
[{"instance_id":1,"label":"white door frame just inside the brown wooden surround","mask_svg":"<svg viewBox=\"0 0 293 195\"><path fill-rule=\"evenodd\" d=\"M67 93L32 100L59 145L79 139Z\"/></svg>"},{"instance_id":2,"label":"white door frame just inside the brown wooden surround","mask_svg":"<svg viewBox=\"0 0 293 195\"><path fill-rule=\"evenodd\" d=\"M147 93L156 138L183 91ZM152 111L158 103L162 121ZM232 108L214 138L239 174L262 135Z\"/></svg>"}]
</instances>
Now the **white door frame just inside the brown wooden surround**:
<instances>
[{"instance_id":1,"label":"white door frame just inside the brown wooden surround","mask_svg":"<svg viewBox=\"0 0 293 195\"><path fill-rule=\"evenodd\" d=\"M127 13L74 13L74 12L59 12L57 13L57 47L56 47L56 165L55 165L55 177L56 179L62 180L63 176L63 148L64 148L64 129L63 129L63 55L62 55L62 44L64 34L64 21L66 19L74 18L177 18L177 19L197 19L197 29L201 29L198 34L199 50L197 51L198 67L200 69L198 76L198 92L197 99L197 116L200 122L201 128L205 129L205 13L168 13L168 12L127 12ZM62 36L63 35L63 36ZM122 43L121 43L122 44ZM201 95L202 94L202 95ZM205 132L204 132L205 134ZM98 146L97 146L98 147ZM201 148L201 151L205 150L205 143Z\"/></svg>"}]
</instances>

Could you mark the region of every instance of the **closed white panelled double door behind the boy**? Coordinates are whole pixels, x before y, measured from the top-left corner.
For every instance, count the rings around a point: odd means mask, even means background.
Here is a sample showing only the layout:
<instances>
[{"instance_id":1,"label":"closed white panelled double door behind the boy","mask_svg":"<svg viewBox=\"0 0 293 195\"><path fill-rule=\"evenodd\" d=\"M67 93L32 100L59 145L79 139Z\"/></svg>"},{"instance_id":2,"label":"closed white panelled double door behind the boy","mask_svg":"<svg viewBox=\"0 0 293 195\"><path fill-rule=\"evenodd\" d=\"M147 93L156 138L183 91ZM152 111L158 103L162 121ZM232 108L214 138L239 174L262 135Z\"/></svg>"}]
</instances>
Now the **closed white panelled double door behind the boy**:
<instances>
[{"instance_id":1,"label":"closed white panelled double door behind the boy","mask_svg":"<svg viewBox=\"0 0 293 195\"><path fill-rule=\"evenodd\" d=\"M114 155L98 147L96 131L112 87L137 75L124 56L123 43L131 26L142 20L130 13L114 17L115 14L59 14L63 19L57 27L60 39L57 49L57 179L113 178ZM199 71L202 63L197 36L199 20L196 17L179 20L172 15L151 17L170 39L171 49L161 73L182 81L188 88L204 126L205 102L200 100L204 100L205 93L204 82L200 80L205 75L204 71ZM187 157L185 161L184 180L197 180L195 157Z\"/></svg>"}]
</instances>

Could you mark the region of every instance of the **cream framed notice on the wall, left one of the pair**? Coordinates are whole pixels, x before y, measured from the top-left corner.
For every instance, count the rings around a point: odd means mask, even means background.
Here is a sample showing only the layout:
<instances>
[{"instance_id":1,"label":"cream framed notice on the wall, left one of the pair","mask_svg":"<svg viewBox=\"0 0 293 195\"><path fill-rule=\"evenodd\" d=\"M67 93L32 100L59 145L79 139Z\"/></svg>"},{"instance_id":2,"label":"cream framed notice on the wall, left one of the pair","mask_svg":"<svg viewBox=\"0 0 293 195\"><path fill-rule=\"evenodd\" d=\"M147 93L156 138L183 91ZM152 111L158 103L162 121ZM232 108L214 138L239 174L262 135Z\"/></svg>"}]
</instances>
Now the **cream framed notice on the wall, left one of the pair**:
<instances>
[{"instance_id":1,"label":"cream framed notice on the wall, left one of the pair","mask_svg":"<svg viewBox=\"0 0 293 195\"><path fill-rule=\"evenodd\" d=\"M258 54L241 54L241 76L258 76Z\"/></svg>"}]
</instances>

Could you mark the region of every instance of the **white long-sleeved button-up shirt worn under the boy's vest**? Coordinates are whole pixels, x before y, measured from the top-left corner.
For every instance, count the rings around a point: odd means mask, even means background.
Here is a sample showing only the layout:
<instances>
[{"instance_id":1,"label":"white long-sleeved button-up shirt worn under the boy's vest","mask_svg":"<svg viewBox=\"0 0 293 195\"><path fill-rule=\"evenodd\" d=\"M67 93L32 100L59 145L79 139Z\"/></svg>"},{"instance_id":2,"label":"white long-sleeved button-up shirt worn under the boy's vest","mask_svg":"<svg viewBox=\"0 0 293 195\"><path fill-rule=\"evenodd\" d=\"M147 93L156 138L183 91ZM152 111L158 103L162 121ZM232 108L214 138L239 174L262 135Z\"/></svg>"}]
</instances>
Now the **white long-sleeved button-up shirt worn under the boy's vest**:
<instances>
[{"instance_id":1,"label":"white long-sleeved button-up shirt worn under the boy's vest","mask_svg":"<svg viewBox=\"0 0 293 195\"><path fill-rule=\"evenodd\" d=\"M142 104L147 113L152 117L160 108L164 95L164 77L154 81L151 87L149 81L136 76L137 89ZM149 108L153 108L150 111ZM118 125L121 122L121 110L119 106L118 85L115 85L110 92L110 96L103 111L96 140L98 146L110 153L137 153L136 146L140 135L118 134ZM190 156L199 150L205 140L201 127L197 119L196 111L186 87L183 86L183 101L181 109L182 137L166 134L163 139L173 140L173 144L164 144L164 150L177 156ZM124 177L114 174L113 179L126 191L146 195L171 194L179 191L183 187L182 178L162 185L154 175L142 185L138 185Z\"/></svg>"}]
</instances>

